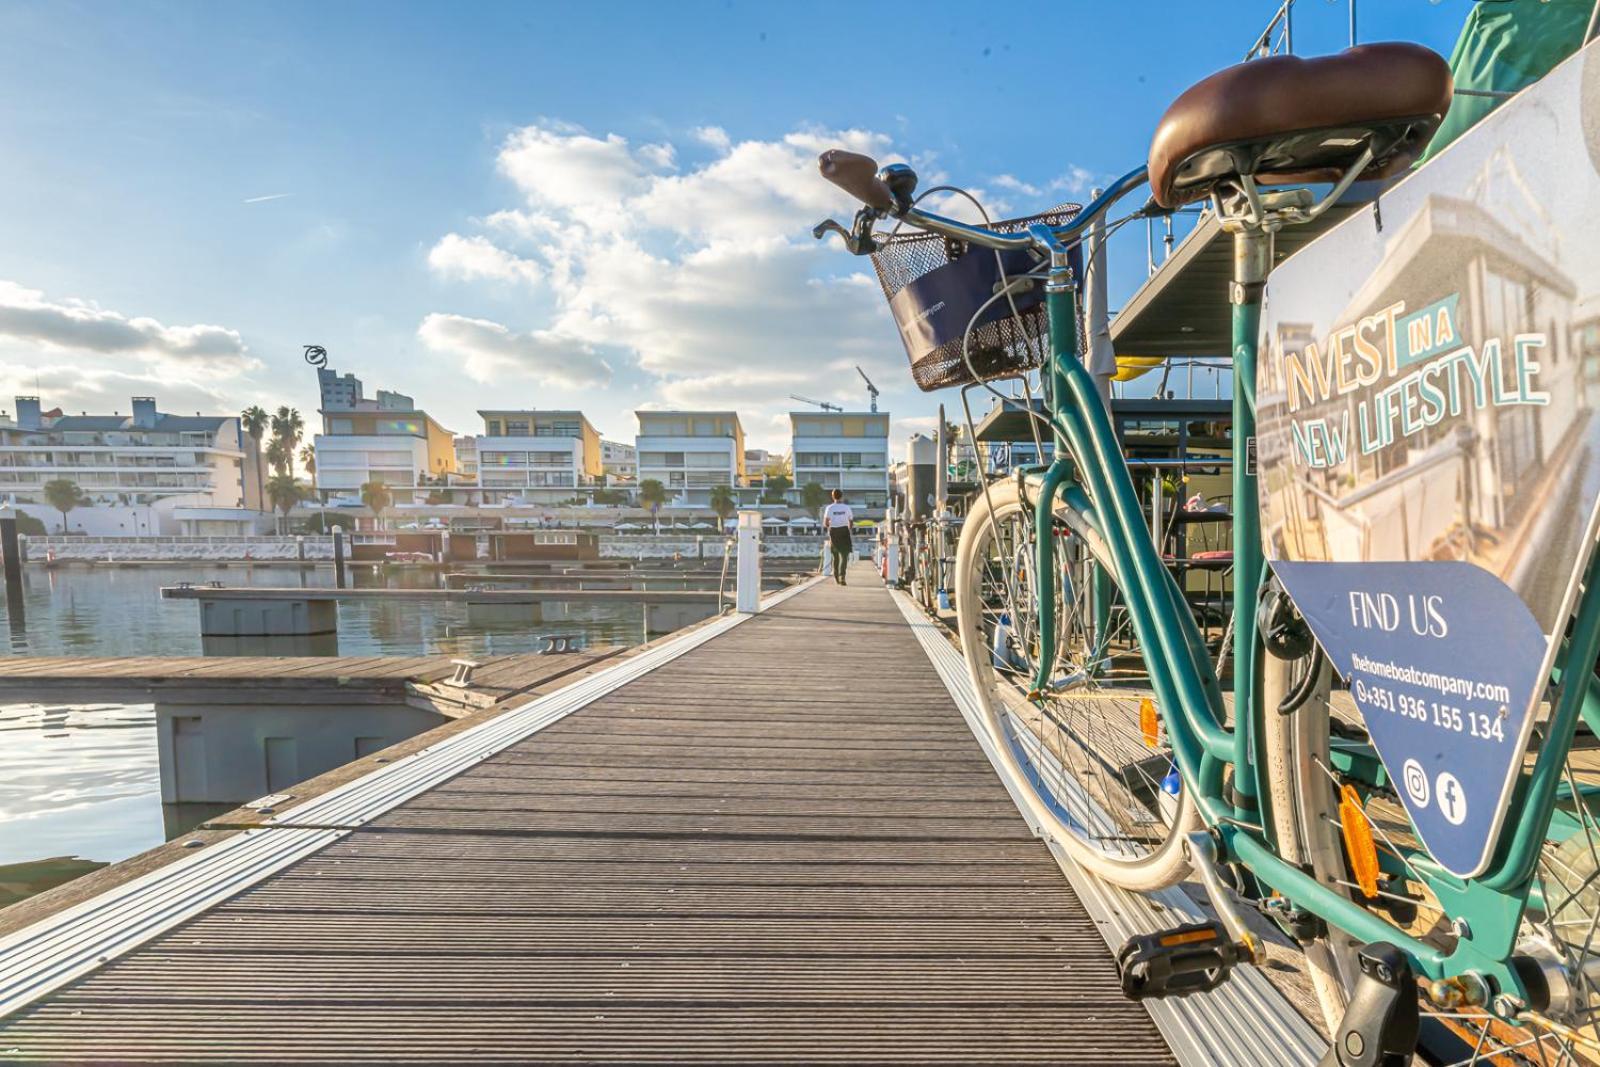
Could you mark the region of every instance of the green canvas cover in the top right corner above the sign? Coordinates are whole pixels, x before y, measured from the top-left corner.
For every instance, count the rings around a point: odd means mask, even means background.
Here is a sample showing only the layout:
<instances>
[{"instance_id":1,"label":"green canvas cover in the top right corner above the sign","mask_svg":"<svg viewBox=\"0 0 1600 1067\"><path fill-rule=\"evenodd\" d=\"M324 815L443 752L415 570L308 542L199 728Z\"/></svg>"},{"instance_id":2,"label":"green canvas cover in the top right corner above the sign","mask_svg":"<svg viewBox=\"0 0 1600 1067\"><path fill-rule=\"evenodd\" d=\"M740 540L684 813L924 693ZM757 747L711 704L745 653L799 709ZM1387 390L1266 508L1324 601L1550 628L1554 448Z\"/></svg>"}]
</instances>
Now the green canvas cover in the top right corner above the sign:
<instances>
[{"instance_id":1,"label":"green canvas cover in the top right corner above the sign","mask_svg":"<svg viewBox=\"0 0 1600 1067\"><path fill-rule=\"evenodd\" d=\"M1450 54L1456 88L1515 93L1533 85L1578 51L1594 8L1595 0L1478 0ZM1422 162L1502 102L1456 96Z\"/></svg>"}]
</instances>

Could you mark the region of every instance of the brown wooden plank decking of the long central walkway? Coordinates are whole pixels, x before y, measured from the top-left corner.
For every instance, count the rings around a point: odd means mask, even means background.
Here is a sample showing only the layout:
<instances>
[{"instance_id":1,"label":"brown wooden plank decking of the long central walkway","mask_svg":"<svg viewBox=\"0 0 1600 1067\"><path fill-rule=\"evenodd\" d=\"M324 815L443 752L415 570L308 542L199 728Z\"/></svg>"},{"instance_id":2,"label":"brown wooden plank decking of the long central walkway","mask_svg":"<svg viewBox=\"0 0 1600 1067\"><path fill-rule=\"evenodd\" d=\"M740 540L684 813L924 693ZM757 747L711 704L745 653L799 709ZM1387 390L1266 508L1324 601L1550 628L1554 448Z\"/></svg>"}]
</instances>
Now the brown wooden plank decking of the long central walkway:
<instances>
[{"instance_id":1,"label":"brown wooden plank decking of the long central walkway","mask_svg":"<svg viewBox=\"0 0 1600 1067\"><path fill-rule=\"evenodd\" d=\"M0 1021L0 1049L1173 1062L875 581L600 696Z\"/></svg>"}]
</instances>

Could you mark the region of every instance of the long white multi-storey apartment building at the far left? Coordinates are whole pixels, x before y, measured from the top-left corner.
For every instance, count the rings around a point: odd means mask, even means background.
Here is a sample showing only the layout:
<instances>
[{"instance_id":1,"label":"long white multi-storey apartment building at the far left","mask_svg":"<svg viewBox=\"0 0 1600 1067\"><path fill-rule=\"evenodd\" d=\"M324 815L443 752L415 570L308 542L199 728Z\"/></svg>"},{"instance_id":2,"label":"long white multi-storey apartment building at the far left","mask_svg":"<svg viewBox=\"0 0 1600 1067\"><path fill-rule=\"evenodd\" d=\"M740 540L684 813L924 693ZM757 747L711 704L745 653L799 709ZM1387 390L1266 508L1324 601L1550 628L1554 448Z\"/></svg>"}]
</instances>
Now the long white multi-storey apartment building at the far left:
<instances>
[{"instance_id":1,"label":"long white multi-storey apartment building at the far left","mask_svg":"<svg viewBox=\"0 0 1600 1067\"><path fill-rule=\"evenodd\" d=\"M67 520L72 533L178 534L182 509L248 525L258 494L237 416L166 414L154 397L134 397L130 414L62 414L18 397L16 416L0 418L0 498L54 531L61 515L43 491L56 480L88 499Z\"/></svg>"}]
</instances>

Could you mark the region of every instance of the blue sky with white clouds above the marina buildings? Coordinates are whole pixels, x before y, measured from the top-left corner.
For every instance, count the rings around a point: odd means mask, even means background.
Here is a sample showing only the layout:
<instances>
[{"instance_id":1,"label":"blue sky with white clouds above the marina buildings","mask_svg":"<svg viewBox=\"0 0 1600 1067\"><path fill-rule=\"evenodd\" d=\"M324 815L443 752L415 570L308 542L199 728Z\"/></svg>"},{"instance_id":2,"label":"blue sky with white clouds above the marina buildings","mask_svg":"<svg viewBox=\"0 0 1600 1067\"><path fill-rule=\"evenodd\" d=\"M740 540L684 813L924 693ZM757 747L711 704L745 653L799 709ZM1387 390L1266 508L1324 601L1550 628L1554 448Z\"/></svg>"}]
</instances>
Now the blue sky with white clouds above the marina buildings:
<instances>
[{"instance_id":1,"label":"blue sky with white clouds above the marina buildings","mask_svg":"<svg viewBox=\"0 0 1600 1067\"><path fill-rule=\"evenodd\" d=\"M864 402L854 363L920 429L866 261L806 234L848 211L816 149L1077 198L1272 6L0 3L0 397L309 414L315 342L458 432L670 403L782 448L787 394ZM1467 10L1366 0L1360 37L1448 54ZM1346 19L1301 0L1296 51ZM1112 270L1115 307L1142 234Z\"/></svg>"}]
</instances>

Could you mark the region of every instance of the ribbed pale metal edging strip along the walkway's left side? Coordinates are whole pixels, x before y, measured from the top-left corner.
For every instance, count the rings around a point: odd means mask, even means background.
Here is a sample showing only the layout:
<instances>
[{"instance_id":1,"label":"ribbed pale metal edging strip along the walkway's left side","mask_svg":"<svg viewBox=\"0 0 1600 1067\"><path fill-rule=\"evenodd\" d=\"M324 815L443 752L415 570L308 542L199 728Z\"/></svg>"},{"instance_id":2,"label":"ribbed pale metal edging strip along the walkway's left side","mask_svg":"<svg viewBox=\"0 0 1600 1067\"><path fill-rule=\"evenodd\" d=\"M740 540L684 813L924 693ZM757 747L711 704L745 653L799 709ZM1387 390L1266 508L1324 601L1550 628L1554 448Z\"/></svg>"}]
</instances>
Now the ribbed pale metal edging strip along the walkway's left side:
<instances>
[{"instance_id":1,"label":"ribbed pale metal edging strip along the walkway's left side","mask_svg":"<svg viewBox=\"0 0 1600 1067\"><path fill-rule=\"evenodd\" d=\"M763 598L762 609L818 581L821 576ZM614 667L363 774L259 829L210 845L0 937L0 1021L749 617L754 616L730 614L670 637Z\"/></svg>"}]
</instances>

